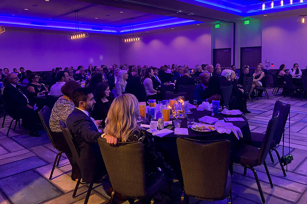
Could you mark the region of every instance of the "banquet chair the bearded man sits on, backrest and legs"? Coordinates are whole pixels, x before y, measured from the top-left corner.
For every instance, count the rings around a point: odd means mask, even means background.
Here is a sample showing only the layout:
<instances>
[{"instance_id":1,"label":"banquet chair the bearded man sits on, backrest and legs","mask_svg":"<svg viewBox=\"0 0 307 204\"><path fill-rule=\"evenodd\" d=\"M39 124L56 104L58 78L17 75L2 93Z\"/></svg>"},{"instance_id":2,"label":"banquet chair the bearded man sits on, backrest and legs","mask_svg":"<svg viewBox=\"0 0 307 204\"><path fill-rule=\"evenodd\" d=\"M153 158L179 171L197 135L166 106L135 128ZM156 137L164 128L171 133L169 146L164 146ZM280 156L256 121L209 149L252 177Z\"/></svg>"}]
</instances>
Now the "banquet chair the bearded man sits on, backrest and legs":
<instances>
[{"instance_id":1,"label":"banquet chair the bearded man sits on, backrest and legs","mask_svg":"<svg viewBox=\"0 0 307 204\"><path fill-rule=\"evenodd\" d=\"M76 141L76 138L74 134L71 132L70 129L66 128L66 124L63 121L60 121L61 130L63 132L63 135L68 143L69 149L72 151L72 157L77 162L78 166L81 166L81 160L80 160L80 148L78 146L78 143ZM72 198L76 198L76 193L78 190L78 187L80 185L81 176L77 180L77 184L75 187L74 192L72 193ZM87 204L88 199L91 195L91 191L93 188L94 183L90 183L88 186L87 194L85 196L84 204Z\"/></svg>"}]
</instances>

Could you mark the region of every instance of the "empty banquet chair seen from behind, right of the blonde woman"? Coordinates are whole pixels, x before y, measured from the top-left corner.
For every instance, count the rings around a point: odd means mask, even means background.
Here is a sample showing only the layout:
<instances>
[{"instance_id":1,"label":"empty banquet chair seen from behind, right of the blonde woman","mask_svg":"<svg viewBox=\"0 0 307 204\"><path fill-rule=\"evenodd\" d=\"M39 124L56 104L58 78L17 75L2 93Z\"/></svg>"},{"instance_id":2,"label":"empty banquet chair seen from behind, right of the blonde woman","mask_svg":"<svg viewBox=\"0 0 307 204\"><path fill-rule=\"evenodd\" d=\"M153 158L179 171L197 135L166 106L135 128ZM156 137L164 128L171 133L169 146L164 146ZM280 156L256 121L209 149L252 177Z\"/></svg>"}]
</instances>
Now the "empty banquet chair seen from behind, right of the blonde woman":
<instances>
[{"instance_id":1,"label":"empty banquet chair seen from behind, right of the blonde woman","mask_svg":"<svg viewBox=\"0 0 307 204\"><path fill-rule=\"evenodd\" d=\"M184 185L181 204L185 195L187 204L189 197L207 201L227 198L228 203L232 202L231 175L228 170L230 146L226 139L200 141L177 138Z\"/></svg>"}]
</instances>

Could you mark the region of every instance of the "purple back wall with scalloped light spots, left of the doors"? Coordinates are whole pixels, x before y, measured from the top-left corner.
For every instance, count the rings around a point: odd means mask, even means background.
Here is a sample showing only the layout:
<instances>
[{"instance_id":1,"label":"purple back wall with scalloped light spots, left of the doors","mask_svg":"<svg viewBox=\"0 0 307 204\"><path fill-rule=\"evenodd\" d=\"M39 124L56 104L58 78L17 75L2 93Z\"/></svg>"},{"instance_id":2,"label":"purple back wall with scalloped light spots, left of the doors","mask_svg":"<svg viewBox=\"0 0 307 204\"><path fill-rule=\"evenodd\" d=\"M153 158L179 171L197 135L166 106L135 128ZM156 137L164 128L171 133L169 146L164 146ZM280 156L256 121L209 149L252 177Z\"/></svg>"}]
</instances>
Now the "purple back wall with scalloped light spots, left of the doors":
<instances>
[{"instance_id":1,"label":"purple back wall with scalloped light spots, left of the doors","mask_svg":"<svg viewBox=\"0 0 307 204\"><path fill-rule=\"evenodd\" d=\"M178 29L178 28L177 28ZM143 41L120 42L121 64L184 65L194 68L196 64L211 62L211 27L181 29L167 32L150 33Z\"/></svg>"}]
</instances>

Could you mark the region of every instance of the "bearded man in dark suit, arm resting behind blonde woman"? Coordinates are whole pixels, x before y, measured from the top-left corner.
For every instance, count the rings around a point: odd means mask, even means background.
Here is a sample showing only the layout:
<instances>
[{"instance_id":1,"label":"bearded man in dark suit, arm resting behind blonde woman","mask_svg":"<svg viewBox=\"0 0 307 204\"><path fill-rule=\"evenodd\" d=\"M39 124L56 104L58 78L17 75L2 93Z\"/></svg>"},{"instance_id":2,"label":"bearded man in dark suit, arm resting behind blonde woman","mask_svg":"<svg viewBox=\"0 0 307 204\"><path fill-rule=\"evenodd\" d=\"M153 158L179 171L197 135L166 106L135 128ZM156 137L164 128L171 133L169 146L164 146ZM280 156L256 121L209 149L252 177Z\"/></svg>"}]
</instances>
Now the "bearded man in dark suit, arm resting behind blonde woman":
<instances>
[{"instance_id":1,"label":"bearded man in dark suit, arm resting behind blonde woman","mask_svg":"<svg viewBox=\"0 0 307 204\"><path fill-rule=\"evenodd\" d=\"M97 143L98 137L102 135L98 124L102 124L102 121L94 121L89 115L95 104L91 89L79 88L75 90L72 101L76 108L69 114L66 123L76 137L80 148L82 166L79 168L82 180L86 183L99 182L106 173L106 167ZM116 143L117 139L113 138L113 144Z\"/></svg>"}]
</instances>

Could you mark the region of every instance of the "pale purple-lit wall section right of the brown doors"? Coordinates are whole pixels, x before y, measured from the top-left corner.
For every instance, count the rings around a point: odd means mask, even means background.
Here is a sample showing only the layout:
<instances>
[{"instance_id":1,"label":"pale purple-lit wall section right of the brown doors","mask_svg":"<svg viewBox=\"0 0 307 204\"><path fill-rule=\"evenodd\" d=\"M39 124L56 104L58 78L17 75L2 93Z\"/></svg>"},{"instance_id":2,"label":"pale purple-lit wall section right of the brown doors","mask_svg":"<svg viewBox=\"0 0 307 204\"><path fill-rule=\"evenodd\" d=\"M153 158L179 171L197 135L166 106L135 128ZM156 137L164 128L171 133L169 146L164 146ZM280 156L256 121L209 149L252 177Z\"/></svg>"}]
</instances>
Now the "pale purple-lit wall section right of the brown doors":
<instances>
[{"instance_id":1,"label":"pale purple-lit wall section right of the brown doors","mask_svg":"<svg viewBox=\"0 0 307 204\"><path fill-rule=\"evenodd\" d=\"M270 17L262 22L262 61L269 59L274 69L285 64L291 69L294 63L300 69L307 64L307 24L297 23L298 15Z\"/></svg>"}]
</instances>

